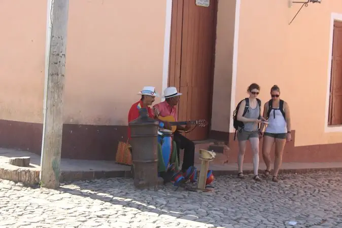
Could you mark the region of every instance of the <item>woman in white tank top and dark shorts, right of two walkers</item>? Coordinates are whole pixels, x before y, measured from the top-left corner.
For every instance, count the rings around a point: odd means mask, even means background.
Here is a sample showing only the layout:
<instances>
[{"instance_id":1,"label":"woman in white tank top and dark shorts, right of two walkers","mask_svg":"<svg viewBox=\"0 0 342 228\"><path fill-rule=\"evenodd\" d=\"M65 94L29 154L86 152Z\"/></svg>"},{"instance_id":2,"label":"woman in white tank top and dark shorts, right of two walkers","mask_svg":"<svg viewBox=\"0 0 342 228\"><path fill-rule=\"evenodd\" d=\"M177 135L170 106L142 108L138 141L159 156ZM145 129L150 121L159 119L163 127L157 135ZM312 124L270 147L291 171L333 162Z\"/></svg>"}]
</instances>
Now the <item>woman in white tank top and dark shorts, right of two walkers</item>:
<instances>
[{"instance_id":1,"label":"woman in white tank top and dark shorts, right of two walkers","mask_svg":"<svg viewBox=\"0 0 342 228\"><path fill-rule=\"evenodd\" d=\"M280 89L277 85L271 88L271 97L272 99L264 105L263 117L267 119L268 125L263 134L262 157L266 164L265 176L267 177L271 170L269 153L273 144L276 143L272 181L278 182L285 143L291 141L291 120L289 105L279 98ZM263 129L263 124L261 129Z\"/></svg>"}]
</instances>

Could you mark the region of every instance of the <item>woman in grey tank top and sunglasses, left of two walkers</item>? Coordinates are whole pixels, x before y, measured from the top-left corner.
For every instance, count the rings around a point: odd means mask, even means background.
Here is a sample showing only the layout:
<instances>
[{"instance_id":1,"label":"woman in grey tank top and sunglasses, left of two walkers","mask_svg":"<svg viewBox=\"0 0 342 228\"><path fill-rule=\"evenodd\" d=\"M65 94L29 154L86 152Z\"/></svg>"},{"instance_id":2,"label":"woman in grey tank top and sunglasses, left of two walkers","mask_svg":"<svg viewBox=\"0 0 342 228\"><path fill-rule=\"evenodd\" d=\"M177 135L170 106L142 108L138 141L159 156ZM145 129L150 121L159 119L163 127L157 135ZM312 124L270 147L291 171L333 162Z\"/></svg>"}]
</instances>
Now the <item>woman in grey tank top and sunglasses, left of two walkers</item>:
<instances>
[{"instance_id":1,"label":"woman in grey tank top and sunglasses, left of two walkers","mask_svg":"<svg viewBox=\"0 0 342 228\"><path fill-rule=\"evenodd\" d=\"M260 116L260 104L261 101L257 99L259 95L260 86L258 84L251 84L247 92L249 98L241 102L240 107L237 111L237 120L244 123L244 127L238 129L237 131L237 141L239 146L239 153L237 157L238 174L237 177L244 178L243 174L243 163L246 151L247 141L250 141L252 152L253 152L253 170L255 181L261 181L258 176L259 168L259 123L265 121L264 118ZM244 114L246 101L249 101L248 109Z\"/></svg>"}]
</instances>

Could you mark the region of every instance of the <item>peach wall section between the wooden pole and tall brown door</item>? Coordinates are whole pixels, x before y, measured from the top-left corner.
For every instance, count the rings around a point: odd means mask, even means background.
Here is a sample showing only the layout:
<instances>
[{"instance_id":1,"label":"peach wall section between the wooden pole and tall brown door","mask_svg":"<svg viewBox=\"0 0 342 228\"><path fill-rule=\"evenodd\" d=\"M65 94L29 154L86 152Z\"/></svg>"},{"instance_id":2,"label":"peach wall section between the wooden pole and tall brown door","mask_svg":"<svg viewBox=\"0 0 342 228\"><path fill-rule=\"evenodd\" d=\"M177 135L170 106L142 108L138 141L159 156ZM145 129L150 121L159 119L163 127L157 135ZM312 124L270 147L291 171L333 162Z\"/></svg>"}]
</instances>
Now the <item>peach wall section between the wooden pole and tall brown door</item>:
<instances>
[{"instance_id":1,"label":"peach wall section between the wooden pole and tall brown door","mask_svg":"<svg viewBox=\"0 0 342 228\"><path fill-rule=\"evenodd\" d=\"M160 0L70 1L66 123L126 125L144 85L161 92L165 12Z\"/></svg>"}]
</instances>

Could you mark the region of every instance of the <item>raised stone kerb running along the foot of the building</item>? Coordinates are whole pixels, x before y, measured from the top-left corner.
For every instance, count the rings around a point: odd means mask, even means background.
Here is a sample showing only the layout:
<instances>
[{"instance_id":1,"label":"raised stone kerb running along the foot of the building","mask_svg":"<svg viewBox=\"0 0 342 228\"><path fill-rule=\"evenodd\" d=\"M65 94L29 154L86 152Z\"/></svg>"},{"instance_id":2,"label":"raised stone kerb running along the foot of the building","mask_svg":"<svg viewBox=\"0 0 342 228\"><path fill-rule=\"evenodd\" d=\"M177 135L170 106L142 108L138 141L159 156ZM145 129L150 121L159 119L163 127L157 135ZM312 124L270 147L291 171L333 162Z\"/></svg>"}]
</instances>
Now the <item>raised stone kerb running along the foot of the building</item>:
<instances>
[{"instance_id":1,"label":"raised stone kerb running along the foot of the building","mask_svg":"<svg viewBox=\"0 0 342 228\"><path fill-rule=\"evenodd\" d=\"M76 161L78 162L78 161ZM96 164L94 161L88 161L88 167ZM197 169L200 169L200 165L195 165ZM76 181L76 180L93 180L102 178L115 178L115 177L126 177L131 178L131 172L129 166L114 165L112 170L102 171L101 166L97 167L96 170L89 171L83 167L83 170L71 171L71 170L61 170L60 182L65 181ZM95 168L95 167L92 167ZM103 169L103 168L102 168ZM224 164L224 165L213 165L210 164L210 170L213 170L214 176L218 177L221 175L236 175L237 165L236 164ZM259 173L263 173L265 170L265 165L260 164ZM312 172L324 172L324 171L342 171L342 163L283 163L280 174L285 173L295 173L304 174ZM30 172L32 176L25 176ZM253 164L244 164L244 173L253 173ZM13 175L12 175L13 174ZM19 176L19 178L18 178ZM21 178L20 176L25 178ZM309 178L309 177L308 177ZM37 168L17 168L15 166L4 167L4 164L0 163L0 179L12 180L23 182L25 185L38 185L39 183L39 170Z\"/></svg>"}]
</instances>

